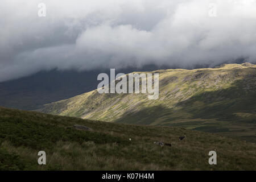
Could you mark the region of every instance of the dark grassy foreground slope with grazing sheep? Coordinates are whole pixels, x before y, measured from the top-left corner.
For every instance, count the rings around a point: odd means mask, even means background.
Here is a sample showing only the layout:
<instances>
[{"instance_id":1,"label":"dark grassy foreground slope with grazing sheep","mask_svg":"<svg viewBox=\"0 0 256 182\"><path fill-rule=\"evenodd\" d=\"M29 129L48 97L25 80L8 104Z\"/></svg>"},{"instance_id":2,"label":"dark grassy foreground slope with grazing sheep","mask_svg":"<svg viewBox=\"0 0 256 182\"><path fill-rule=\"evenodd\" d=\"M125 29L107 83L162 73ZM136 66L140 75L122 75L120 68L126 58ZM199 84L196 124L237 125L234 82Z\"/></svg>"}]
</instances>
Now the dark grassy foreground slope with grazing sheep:
<instances>
[{"instance_id":1,"label":"dark grassy foreground slope with grazing sheep","mask_svg":"<svg viewBox=\"0 0 256 182\"><path fill-rule=\"evenodd\" d=\"M67 129L74 124L93 131ZM187 140L178 137L187 135ZM131 142L129 141L131 138ZM155 140L171 143L163 148ZM38 151L47 165L38 165ZM217 165L208 152L217 151ZM179 127L89 121L0 107L0 170L255 170L256 144Z\"/></svg>"}]
</instances>

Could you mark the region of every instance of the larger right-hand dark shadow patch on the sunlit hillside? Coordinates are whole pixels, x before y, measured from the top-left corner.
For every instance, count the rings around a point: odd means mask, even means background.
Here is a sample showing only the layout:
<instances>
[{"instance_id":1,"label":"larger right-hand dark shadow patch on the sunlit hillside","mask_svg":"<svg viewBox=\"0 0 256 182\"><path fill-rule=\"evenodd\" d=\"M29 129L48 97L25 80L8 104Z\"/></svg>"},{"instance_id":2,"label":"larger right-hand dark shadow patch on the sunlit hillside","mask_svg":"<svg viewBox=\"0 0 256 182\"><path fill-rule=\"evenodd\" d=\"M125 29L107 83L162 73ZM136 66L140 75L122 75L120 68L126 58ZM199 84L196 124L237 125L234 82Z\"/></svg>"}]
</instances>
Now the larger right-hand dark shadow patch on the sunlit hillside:
<instances>
[{"instance_id":1,"label":"larger right-hand dark shadow patch on the sunlit hillside","mask_svg":"<svg viewBox=\"0 0 256 182\"><path fill-rule=\"evenodd\" d=\"M192 114L193 118L237 121L239 118L234 113L256 113L256 88L253 84L250 87L247 79L236 81L227 89L203 92L179 102L176 106L181 106L181 110Z\"/></svg>"}]
</instances>

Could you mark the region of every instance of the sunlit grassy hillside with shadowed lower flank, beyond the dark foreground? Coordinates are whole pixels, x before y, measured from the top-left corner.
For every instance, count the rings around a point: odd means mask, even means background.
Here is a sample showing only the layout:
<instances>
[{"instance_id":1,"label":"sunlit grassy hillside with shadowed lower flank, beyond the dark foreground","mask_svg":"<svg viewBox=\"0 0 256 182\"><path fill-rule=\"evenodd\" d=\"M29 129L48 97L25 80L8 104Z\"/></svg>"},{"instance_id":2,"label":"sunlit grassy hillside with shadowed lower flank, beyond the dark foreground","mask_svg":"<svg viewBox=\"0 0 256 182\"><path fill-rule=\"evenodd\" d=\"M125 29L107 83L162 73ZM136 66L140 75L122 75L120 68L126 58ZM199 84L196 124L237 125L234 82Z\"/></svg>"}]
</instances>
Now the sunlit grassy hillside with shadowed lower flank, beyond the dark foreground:
<instances>
[{"instance_id":1,"label":"sunlit grassy hillside with shadowed lower flank, beyond the dark foreground","mask_svg":"<svg viewBox=\"0 0 256 182\"><path fill-rule=\"evenodd\" d=\"M256 142L256 65L151 73L159 73L158 100L148 100L147 94L93 90L39 111L106 122L182 126Z\"/></svg>"}]
</instances>

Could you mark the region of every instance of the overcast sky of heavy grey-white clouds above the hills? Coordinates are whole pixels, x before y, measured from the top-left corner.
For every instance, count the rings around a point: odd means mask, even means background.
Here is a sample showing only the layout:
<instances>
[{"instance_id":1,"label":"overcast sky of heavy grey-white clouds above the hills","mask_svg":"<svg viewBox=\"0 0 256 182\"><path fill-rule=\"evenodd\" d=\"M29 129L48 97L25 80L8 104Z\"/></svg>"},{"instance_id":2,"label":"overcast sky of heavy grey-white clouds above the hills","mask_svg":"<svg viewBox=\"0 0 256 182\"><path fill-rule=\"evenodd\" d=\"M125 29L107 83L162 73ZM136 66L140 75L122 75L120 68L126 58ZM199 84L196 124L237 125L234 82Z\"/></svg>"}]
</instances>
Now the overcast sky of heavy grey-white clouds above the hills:
<instances>
[{"instance_id":1,"label":"overcast sky of heavy grey-white clouds above the hills","mask_svg":"<svg viewBox=\"0 0 256 182\"><path fill-rule=\"evenodd\" d=\"M1 0L0 81L51 69L256 63L255 30L256 0Z\"/></svg>"}]
</instances>

